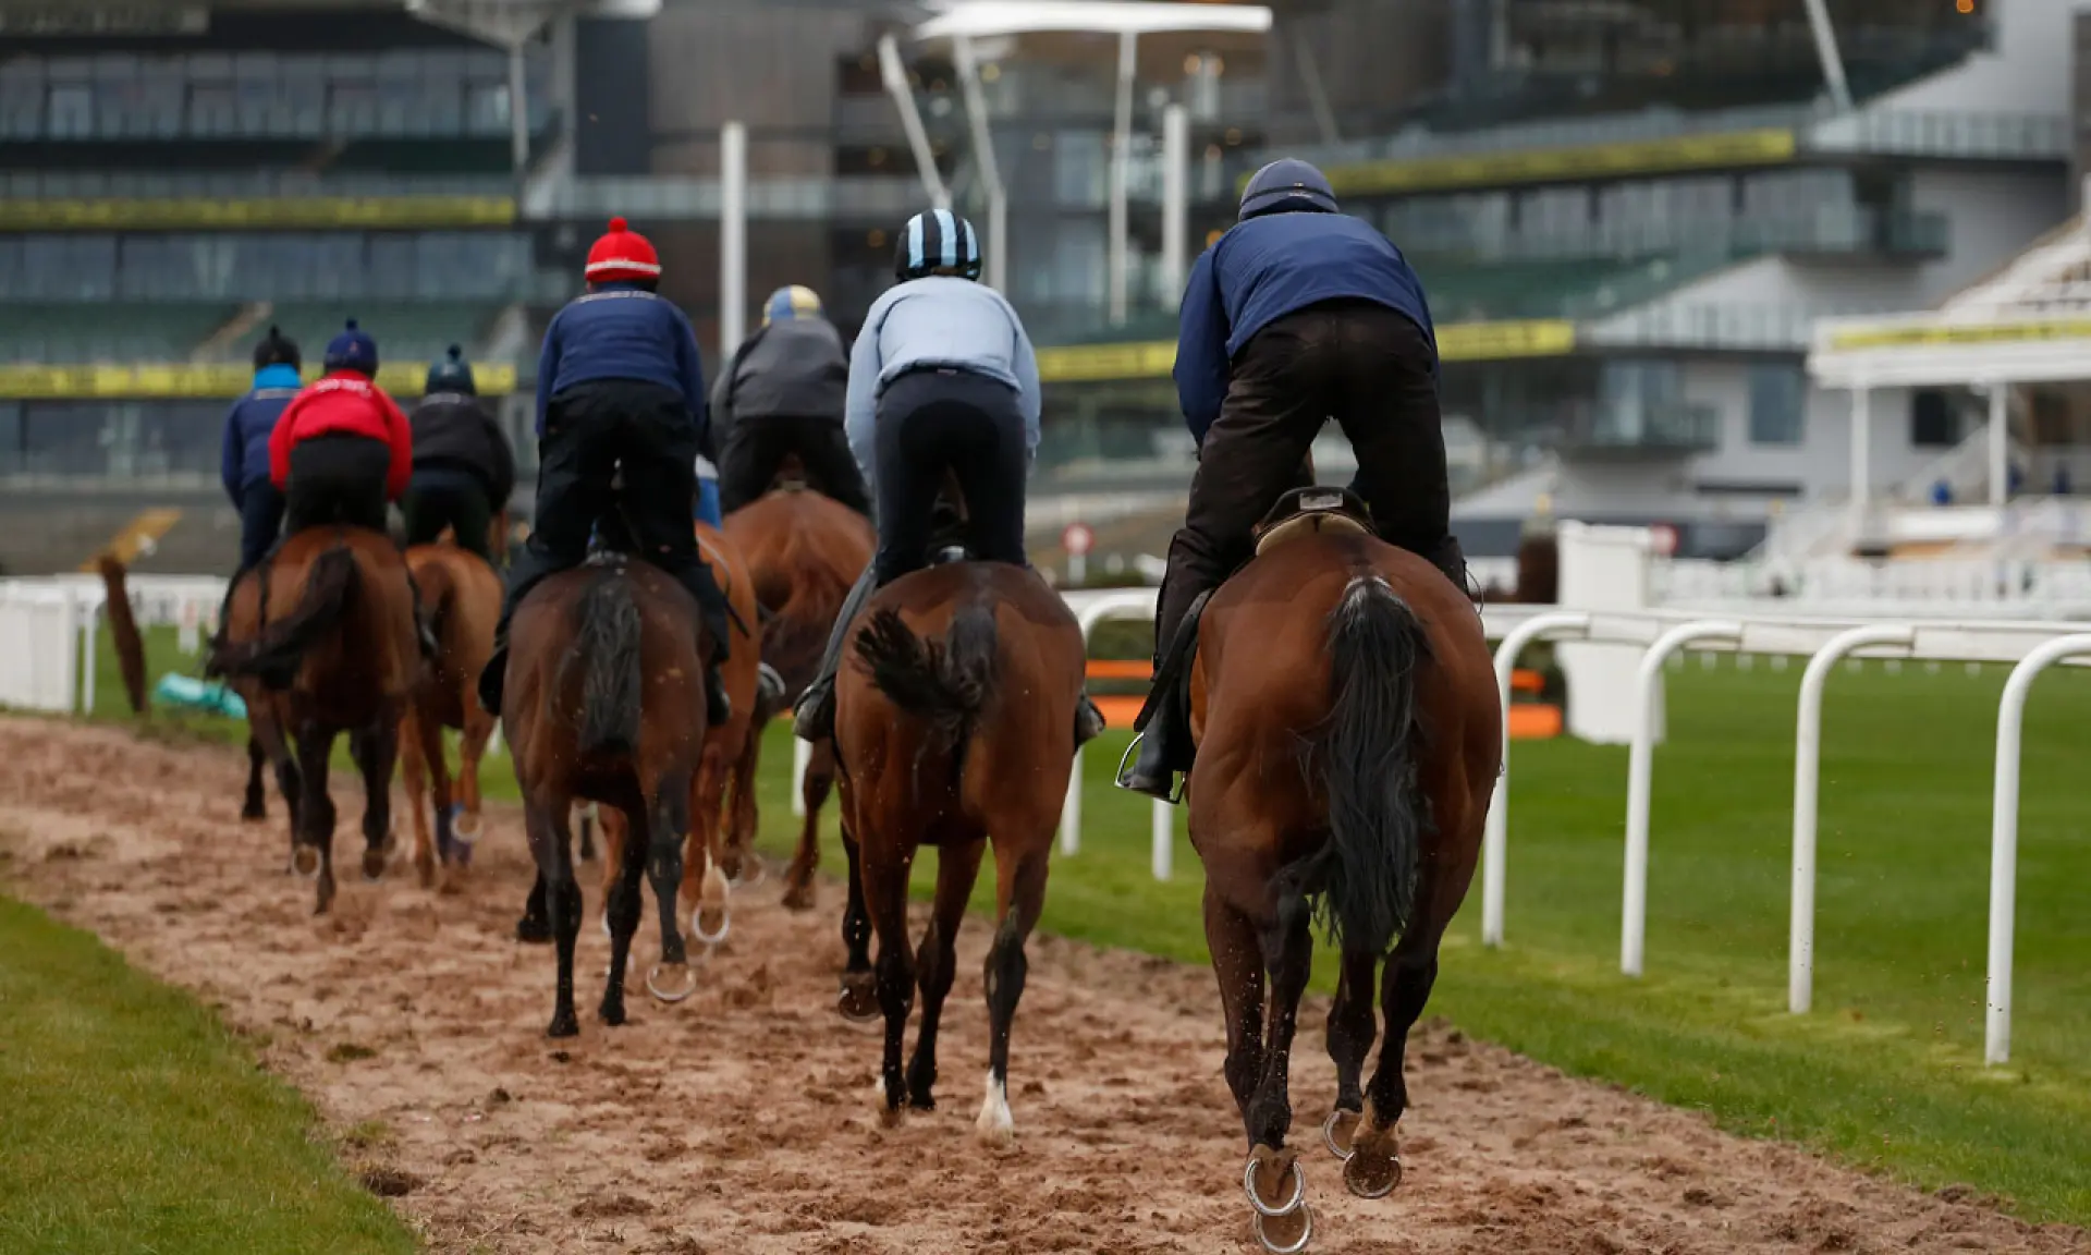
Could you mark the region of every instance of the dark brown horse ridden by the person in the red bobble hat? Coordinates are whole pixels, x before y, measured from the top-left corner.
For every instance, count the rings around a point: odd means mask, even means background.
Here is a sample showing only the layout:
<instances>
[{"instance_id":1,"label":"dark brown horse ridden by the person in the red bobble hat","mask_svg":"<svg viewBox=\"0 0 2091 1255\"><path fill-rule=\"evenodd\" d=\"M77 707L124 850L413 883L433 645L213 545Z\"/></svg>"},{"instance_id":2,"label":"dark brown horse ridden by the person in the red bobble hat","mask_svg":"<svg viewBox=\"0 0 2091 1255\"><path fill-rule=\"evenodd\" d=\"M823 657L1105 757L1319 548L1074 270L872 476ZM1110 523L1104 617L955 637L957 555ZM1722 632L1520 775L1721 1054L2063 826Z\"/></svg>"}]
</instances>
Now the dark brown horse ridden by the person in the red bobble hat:
<instances>
[{"instance_id":1,"label":"dark brown horse ridden by the person in the red bobble hat","mask_svg":"<svg viewBox=\"0 0 2091 1255\"><path fill-rule=\"evenodd\" d=\"M640 876L661 914L661 964L646 987L663 1002L696 991L675 889L690 830L690 786L705 745L705 667L690 594L646 563L598 550L539 584L510 628L502 726L523 791L537 883L516 937L558 943L550 1037L579 1033L573 1014L573 945L581 887L573 876L575 799L617 807L634 839L608 897L611 975L600 1017L625 1023L625 964L640 922ZM675 975L673 985L663 985Z\"/></svg>"}]
</instances>

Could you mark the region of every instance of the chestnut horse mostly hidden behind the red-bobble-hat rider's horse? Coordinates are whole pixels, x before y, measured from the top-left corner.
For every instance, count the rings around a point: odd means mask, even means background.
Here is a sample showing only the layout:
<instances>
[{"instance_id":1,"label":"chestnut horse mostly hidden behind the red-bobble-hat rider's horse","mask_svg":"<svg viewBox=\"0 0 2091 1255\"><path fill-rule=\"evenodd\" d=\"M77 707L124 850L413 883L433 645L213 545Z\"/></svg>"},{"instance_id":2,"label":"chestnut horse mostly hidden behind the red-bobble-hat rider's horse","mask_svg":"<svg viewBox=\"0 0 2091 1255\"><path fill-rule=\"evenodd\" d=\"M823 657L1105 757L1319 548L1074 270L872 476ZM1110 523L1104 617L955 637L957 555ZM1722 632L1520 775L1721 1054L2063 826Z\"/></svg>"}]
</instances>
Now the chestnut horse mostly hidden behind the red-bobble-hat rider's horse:
<instances>
[{"instance_id":1,"label":"chestnut horse mostly hidden behind the red-bobble-hat rider's horse","mask_svg":"<svg viewBox=\"0 0 2091 1255\"><path fill-rule=\"evenodd\" d=\"M751 625L757 623L757 604L749 567L740 561L734 542L709 523L696 525L696 544L734 611L728 628L732 648L719 669L719 678L726 680L726 697L732 703L732 720L705 732L705 751L690 784L690 839L682 853L682 895L690 904L690 933L705 945L717 945L726 941L728 933L726 893L740 878L740 870L753 864L749 845L753 845L757 828L755 766L761 749L761 726L774 711L757 705L761 646L751 632ZM615 809L600 809L598 818L602 845L608 851L602 864L606 902L615 868L623 858L625 818ZM608 929L608 914L604 914L604 929Z\"/></svg>"}]
</instances>

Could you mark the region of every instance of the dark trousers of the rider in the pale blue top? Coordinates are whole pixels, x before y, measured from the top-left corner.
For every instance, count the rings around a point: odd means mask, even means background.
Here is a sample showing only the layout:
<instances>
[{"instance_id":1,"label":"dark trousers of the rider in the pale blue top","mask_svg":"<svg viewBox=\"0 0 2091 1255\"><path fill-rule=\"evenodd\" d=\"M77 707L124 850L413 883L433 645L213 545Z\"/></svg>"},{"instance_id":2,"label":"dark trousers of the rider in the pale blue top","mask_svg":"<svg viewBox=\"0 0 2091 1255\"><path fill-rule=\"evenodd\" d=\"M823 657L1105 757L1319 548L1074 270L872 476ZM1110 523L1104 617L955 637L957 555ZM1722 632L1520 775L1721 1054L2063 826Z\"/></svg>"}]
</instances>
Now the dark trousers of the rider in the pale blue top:
<instances>
[{"instance_id":1,"label":"dark trousers of the rider in the pale blue top","mask_svg":"<svg viewBox=\"0 0 2091 1255\"><path fill-rule=\"evenodd\" d=\"M878 397L876 584L922 567L945 473L966 500L966 550L1025 563L1025 418L1016 391L964 370L916 370Z\"/></svg>"}]
</instances>

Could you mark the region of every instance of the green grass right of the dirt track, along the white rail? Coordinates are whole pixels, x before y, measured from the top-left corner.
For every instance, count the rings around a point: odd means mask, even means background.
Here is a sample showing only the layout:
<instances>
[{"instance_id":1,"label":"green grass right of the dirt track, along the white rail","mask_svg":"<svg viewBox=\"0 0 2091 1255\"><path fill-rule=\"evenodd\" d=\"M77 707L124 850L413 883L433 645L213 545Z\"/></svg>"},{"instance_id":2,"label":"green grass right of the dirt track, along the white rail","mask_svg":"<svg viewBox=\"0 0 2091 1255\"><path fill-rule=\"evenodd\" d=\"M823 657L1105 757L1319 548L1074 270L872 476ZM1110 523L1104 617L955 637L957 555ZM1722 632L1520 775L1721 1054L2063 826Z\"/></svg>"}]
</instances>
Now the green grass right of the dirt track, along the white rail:
<instances>
[{"instance_id":1,"label":"green grass right of the dirt track, along the white rail","mask_svg":"<svg viewBox=\"0 0 2091 1255\"><path fill-rule=\"evenodd\" d=\"M1656 751L1648 975L1618 973L1625 747L1518 743L1508 948L1478 945L1476 885L1430 1014L1736 1132L1924 1186L1966 1182L2032 1219L2091 1222L2091 814L2078 786L2091 676L2049 674L2028 705L2014 1058L1984 1069L2003 674L1867 663L1830 682L1815 1012L1786 1014L1800 667L1694 659L1671 671L1671 734ZM1179 818L1177 874L1150 878L1148 805L1110 789L1123 747L1106 734L1083 759L1083 849L1056 860L1046 927L1202 964L1198 860ZM782 728L763 761L763 845L782 853L797 830ZM489 761L487 791L512 795L506 761ZM832 807L824 858L841 870ZM983 876L976 906L989 893ZM1334 981L1326 958L1322 989Z\"/></svg>"}]
</instances>

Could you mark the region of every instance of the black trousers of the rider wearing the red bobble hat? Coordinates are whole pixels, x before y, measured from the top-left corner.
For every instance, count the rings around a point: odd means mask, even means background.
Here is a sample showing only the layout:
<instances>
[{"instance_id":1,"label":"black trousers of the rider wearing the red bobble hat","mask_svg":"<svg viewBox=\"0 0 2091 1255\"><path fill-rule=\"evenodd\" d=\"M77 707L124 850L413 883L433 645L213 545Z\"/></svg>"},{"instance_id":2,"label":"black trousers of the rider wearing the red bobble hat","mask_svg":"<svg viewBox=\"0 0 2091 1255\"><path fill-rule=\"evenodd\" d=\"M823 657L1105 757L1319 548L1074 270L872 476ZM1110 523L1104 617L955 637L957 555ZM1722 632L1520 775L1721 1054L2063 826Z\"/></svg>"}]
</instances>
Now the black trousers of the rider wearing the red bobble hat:
<instances>
[{"instance_id":1,"label":"black trousers of the rider wearing the red bobble hat","mask_svg":"<svg viewBox=\"0 0 2091 1255\"><path fill-rule=\"evenodd\" d=\"M508 567L500 638L529 590L588 558L588 538L606 519L604 535L629 535L636 556L690 590L713 661L726 661L726 594L698 556L690 523L696 450L690 406L657 383L602 379L552 397L537 439L537 519Z\"/></svg>"}]
</instances>

